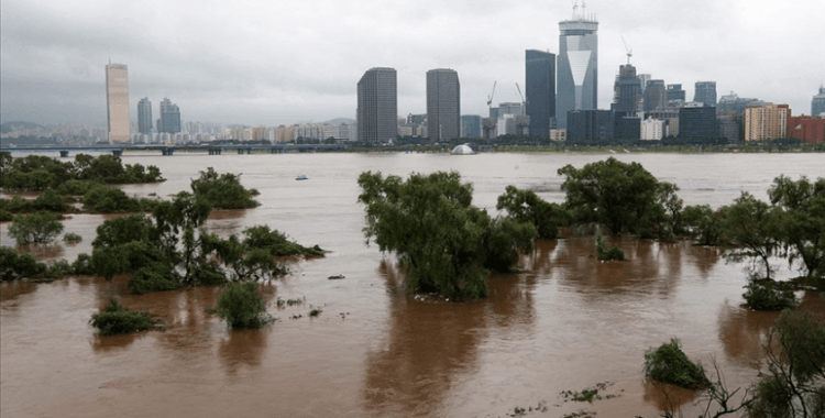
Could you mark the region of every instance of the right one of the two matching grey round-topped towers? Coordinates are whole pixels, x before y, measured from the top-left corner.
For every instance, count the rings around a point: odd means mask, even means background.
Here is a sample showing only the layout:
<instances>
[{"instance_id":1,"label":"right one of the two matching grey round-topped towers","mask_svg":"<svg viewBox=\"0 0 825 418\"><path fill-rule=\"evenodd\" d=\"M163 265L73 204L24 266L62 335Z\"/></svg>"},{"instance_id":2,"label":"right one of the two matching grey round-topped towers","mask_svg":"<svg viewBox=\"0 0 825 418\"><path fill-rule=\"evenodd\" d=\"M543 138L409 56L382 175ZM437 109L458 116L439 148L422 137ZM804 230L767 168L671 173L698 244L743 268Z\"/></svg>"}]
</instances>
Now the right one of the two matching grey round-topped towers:
<instances>
[{"instance_id":1,"label":"right one of the two matching grey round-topped towers","mask_svg":"<svg viewBox=\"0 0 825 418\"><path fill-rule=\"evenodd\" d=\"M427 134L430 140L461 136L461 85L455 70L427 72Z\"/></svg>"}]
</instances>

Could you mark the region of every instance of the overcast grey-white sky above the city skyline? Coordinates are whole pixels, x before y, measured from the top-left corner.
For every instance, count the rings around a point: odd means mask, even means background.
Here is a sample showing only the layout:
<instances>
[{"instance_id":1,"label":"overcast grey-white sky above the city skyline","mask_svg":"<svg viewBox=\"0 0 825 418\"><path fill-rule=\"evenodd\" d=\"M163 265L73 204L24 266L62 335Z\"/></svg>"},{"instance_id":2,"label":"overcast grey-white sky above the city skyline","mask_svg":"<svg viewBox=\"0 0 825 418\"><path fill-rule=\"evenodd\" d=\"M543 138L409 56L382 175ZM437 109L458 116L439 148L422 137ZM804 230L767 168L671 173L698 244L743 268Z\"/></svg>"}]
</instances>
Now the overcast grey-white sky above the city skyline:
<instances>
[{"instance_id":1,"label":"overcast grey-white sky above the city skyline","mask_svg":"<svg viewBox=\"0 0 825 418\"><path fill-rule=\"evenodd\" d=\"M627 59L693 98L697 80L810 113L825 84L825 1L588 0L598 102ZM0 118L106 121L103 66L129 66L132 119L168 97L186 121L277 125L355 116L371 67L398 72L400 114L426 112L426 72L453 68L464 114L520 101L527 48L559 51L571 0L2 0Z\"/></svg>"}]
</instances>

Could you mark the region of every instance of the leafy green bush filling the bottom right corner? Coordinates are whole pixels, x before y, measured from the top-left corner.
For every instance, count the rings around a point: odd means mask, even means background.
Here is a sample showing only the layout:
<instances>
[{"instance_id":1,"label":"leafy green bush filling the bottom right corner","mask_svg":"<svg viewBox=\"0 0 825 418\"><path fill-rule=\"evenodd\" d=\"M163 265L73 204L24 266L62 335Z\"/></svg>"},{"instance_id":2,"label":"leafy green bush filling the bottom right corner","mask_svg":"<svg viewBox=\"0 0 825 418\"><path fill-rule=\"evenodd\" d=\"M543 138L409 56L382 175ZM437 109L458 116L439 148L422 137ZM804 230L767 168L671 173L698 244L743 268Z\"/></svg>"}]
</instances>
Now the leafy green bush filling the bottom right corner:
<instances>
[{"instance_id":1,"label":"leafy green bush filling the bottom right corner","mask_svg":"<svg viewBox=\"0 0 825 418\"><path fill-rule=\"evenodd\" d=\"M771 328L765 348L767 371L751 387L754 395L748 416L822 417L825 414L825 323L822 319L806 311L785 310Z\"/></svg>"}]
</instances>

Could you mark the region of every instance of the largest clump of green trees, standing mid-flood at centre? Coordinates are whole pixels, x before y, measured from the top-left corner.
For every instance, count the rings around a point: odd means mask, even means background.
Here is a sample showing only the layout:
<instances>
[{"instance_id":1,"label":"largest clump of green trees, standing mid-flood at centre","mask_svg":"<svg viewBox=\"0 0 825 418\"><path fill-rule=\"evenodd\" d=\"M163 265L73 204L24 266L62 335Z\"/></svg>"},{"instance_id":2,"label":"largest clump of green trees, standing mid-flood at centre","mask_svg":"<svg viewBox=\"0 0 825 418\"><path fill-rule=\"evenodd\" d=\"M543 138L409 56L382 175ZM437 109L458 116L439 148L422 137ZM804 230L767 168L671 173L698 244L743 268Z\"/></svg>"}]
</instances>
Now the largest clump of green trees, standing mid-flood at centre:
<instances>
[{"instance_id":1,"label":"largest clump of green trees, standing mid-flood at centre","mask_svg":"<svg viewBox=\"0 0 825 418\"><path fill-rule=\"evenodd\" d=\"M473 188L458 173L413 174L406 182L381 173L362 173L359 201L366 206L364 234L381 251L395 252L407 266L410 290L436 292L462 299L487 296L485 265L501 267L499 252L536 235L514 223L494 222L472 206ZM515 222L515 221L508 221ZM509 233L517 233L509 237Z\"/></svg>"}]
</instances>

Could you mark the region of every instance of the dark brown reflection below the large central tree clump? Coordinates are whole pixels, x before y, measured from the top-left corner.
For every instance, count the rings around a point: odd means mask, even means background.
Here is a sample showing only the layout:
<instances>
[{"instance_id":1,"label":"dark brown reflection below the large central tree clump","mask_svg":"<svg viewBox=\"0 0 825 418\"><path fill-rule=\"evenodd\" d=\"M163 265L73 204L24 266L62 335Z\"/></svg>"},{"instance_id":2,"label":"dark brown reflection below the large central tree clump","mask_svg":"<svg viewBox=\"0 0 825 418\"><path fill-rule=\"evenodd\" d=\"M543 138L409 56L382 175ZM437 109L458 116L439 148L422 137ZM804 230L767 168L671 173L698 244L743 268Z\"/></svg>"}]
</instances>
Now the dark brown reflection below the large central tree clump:
<instances>
[{"instance_id":1,"label":"dark brown reflection below the large central tree clump","mask_svg":"<svg viewBox=\"0 0 825 418\"><path fill-rule=\"evenodd\" d=\"M422 416L439 410L459 376L479 366L479 346L495 327L531 326L535 278L490 277L490 297L477 301L420 301L404 292L404 274L383 262L378 274L391 294L389 331L367 354L363 396L376 416Z\"/></svg>"}]
</instances>

